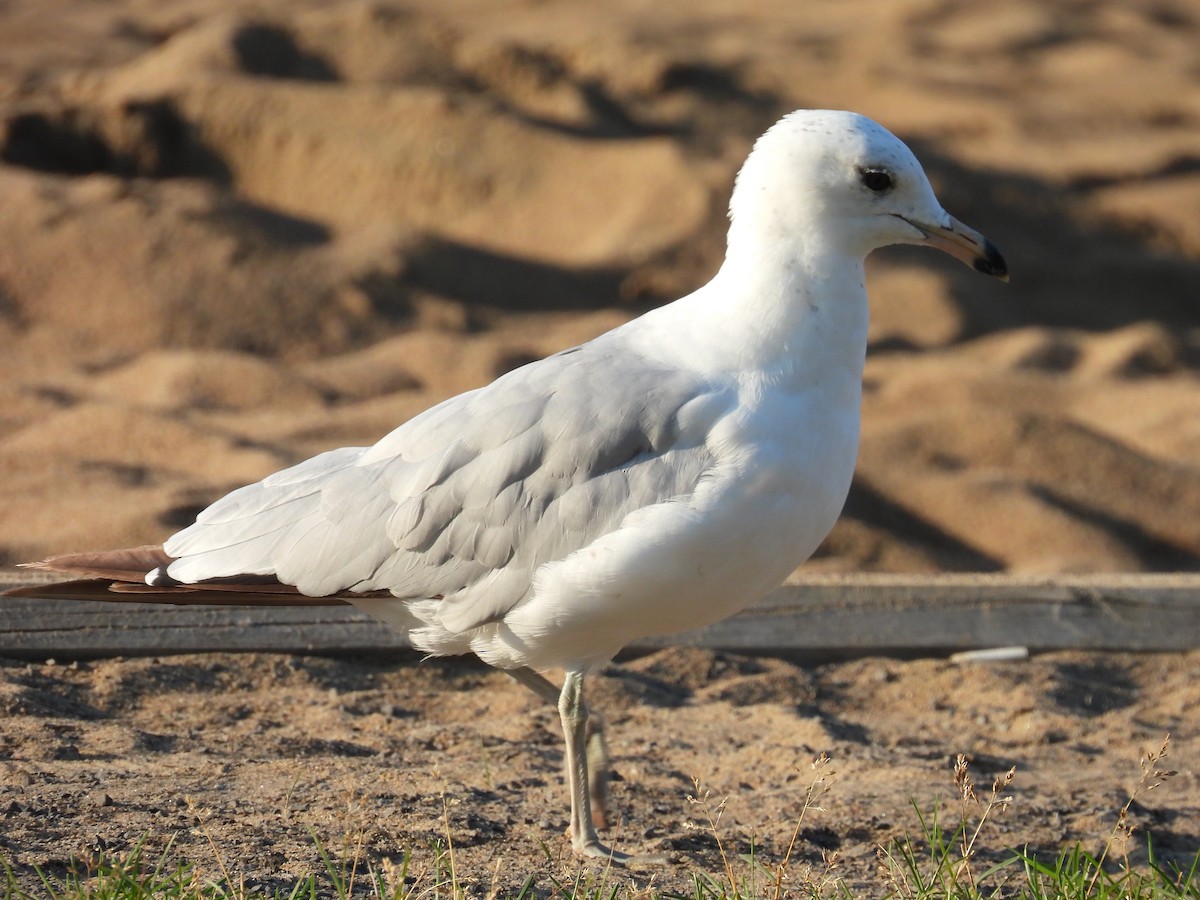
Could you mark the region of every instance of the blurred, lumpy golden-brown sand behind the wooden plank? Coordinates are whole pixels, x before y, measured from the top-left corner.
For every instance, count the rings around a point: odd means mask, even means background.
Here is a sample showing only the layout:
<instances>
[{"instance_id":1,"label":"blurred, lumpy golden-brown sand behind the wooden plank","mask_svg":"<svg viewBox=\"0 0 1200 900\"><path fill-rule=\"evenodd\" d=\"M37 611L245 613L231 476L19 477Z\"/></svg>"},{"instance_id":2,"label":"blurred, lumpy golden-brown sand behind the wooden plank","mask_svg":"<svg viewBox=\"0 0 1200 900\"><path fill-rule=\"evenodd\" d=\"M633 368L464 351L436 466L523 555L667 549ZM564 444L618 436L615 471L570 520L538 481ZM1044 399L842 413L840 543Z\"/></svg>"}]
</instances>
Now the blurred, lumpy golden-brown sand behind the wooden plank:
<instances>
[{"instance_id":1,"label":"blurred, lumpy golden-brown sand behind the wooden plank","mask_svg":"<svg viewBox=\"0 0 1200 900\"><path fill-rule=\"evenodd\" d=\"M1195 569L1200 17L796 7L7 5L0 556L161 540L680 295L750 140L828 106L908 139L1014 276L872 262L860 479L814 565Z\"/></svg>"}]
</instances>

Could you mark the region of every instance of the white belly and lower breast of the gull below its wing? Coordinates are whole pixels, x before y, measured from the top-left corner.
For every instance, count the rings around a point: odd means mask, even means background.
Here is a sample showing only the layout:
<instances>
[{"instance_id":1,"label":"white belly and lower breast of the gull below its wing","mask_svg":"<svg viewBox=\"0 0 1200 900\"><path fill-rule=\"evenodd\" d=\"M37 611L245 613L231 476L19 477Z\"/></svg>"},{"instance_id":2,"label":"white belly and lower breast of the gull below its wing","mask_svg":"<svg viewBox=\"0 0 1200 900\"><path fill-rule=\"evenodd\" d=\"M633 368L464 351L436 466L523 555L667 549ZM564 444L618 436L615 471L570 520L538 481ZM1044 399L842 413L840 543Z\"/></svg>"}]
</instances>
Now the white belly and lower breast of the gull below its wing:
<instances>
[{"instance_id":1,"label":"white belly and lower breast of the gull below its wing","mask_svg":"<svg viewBox=\"0 0 1200 900\"><path fill-rule=\"evenodd\" d=\"M754 436L688 499L630 515L619 529L542 566L530 596L472 642L486 661L593 667L630 641L702 628L786 578L841 512L858 415L802 418L796 436Z\"/></svg>"}]
</instances>

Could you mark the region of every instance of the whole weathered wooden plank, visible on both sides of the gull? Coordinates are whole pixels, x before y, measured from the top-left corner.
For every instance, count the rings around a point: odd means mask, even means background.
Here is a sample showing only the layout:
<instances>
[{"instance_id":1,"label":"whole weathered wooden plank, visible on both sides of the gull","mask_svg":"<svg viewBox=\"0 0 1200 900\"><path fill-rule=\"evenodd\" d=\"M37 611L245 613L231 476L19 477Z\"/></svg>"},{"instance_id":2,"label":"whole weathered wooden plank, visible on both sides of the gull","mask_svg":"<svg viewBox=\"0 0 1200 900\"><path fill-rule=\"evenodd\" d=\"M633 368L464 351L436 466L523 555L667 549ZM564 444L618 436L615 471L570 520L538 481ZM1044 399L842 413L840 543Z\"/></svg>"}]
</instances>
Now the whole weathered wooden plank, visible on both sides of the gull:
<instances>
[{"instance_id":1,"label":"whole weathered wooden plank, visible on both sides of the gull","mask_svg":"<svg viewBox=\"0 0 1200 900\"><path fill-rule=\"evenodd\" d=\"M31 577L32 576L32 577ZM0 574L0 588L43 582ZM1200 647L1200 575L806 576L697 631L691 644L804 658ZM359 653L408 647L353 607L218 607L0 599L0 655L22 659L211 650Z\"/></svg>"}]
</instances>

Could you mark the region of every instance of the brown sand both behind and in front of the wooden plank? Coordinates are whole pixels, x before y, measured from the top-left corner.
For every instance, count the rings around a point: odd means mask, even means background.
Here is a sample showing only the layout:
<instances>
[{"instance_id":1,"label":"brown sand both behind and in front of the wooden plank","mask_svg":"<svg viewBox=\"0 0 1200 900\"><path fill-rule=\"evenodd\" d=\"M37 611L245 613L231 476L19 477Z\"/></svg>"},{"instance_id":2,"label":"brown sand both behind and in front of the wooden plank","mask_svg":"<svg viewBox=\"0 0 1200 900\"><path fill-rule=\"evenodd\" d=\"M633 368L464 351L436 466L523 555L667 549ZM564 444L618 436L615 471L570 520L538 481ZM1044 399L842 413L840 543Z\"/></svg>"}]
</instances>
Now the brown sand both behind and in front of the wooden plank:
<instances>
[{"instance_id":1,"label":"brown sand both behind and in front of the wooden plank","mask_svg":"<svg viewBox=\"0 0 1200 900\"><path fill-rule=\"evenodd\" d=\"M1195 570L1198 41L1183 0L12 0L0 562L160 541L703 283L750 142L824 106L908 140L1013 282L872 259L858 480L810 566ZM792 767L828 750L803 852L840 846L862 878L961 750L982 778L1019 767L1006 827L1050 846L1099 834L1171 731L1182 774L1145 816L1194 852L1195 661L637 660L595 690L614 840L680 854L660 884L712 866L683 829L696 775L779 852ZM276 883L316 864L308 826L365 827L373 859L444 836L444 794L478 883L570 871L550 710L410 662L7 666L0 852L58 865L178 830L211 866L199 816Z\"/></svg>"}]
</instances>

